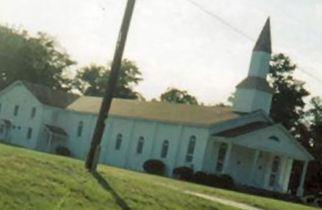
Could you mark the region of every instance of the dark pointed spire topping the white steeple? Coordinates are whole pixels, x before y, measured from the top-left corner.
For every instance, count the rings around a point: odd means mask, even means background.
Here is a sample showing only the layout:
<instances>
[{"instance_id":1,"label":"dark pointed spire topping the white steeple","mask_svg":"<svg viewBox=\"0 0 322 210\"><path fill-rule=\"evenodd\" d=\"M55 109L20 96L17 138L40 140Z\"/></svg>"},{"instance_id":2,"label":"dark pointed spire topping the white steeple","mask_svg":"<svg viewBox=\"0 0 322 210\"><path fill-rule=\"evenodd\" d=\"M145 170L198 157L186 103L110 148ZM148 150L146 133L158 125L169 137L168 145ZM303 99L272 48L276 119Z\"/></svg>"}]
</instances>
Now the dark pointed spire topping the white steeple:
<instances>
[{"instance_id":1,"label":"dark pointed spire topping the white steeple","mask_svg":"<svg viewBox=\"0 0 322 210\"><path fill-rule=\"evenodd\" d=\"M253 51L262 51L272 53L271 45L271 26L269 17L266 20L265 26L259 35Z\"/></svg>"}]
</instances>

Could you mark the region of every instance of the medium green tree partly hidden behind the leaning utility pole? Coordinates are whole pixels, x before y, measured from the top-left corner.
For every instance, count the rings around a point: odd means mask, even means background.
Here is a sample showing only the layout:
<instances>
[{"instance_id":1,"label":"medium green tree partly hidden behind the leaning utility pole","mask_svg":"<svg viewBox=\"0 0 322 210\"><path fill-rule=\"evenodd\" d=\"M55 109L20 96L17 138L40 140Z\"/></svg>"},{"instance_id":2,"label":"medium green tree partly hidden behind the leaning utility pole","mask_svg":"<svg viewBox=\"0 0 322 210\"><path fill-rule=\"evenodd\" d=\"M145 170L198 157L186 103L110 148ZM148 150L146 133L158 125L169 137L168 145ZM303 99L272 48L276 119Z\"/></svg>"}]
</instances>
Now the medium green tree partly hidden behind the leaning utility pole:
<instances>
[{"instance_id":1,"label":"medium green tree partly hidden behind the leaning utility pole","mask_svg":"<svg viewBox=\"0 0 322 210\"><path fill-rule=\"evenodd\" d=\"M102 97L110 75L110 68L92 64L77 72L74 87L84 95ZM143 96L134 91L134 87L142 81L142 74L136 64L124 59L119 75L115 97L144 100Z\"/></svg>"}]
</instances>

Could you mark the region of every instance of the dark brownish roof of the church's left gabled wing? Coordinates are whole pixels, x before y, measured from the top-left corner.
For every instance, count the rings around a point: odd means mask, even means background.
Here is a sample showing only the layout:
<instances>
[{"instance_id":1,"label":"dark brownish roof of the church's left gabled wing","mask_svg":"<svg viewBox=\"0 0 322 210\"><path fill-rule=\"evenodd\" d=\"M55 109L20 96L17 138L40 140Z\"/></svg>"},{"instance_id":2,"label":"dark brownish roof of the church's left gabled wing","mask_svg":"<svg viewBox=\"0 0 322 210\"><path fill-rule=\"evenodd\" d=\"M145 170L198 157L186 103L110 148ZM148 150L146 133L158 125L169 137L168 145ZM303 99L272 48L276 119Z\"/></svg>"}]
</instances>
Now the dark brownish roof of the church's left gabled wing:
<instances>
[{"instance_id":1,"label":"dark brownish roof of the church's left gabled wing","mask_svg":"<svg viewBox=\"0 0 322 210\"><path fill-rule=\"evenodd\" d=\"M26 81L21 81L21 83L39 100L40 103L53 107L66 108L79 97L64 91L52 90L43 85Z\"/></svg>"}]
</instances>

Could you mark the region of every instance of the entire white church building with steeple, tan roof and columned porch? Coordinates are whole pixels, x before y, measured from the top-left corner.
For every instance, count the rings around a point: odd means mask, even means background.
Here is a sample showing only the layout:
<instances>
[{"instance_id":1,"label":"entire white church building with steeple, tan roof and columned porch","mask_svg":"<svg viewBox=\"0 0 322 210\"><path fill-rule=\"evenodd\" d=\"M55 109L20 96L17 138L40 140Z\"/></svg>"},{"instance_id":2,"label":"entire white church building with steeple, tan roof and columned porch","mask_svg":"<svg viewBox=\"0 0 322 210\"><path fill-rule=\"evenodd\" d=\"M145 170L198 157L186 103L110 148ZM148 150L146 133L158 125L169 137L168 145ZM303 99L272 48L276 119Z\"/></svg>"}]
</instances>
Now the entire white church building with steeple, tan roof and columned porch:
<instances>
[{"instance_id":1,"label":"entire white church building with steeple, tan roof and columned porch","mask_svg":"<svg viewBox=\"0 0 322 210\"><path fill-rule=\"evenodd\" d=\"M249 73L237 85L233 107L180 105L114 99L100 162L142 171L149 159L176 167L229 174L236 183L287 192L294 160L302 161L303 194L313 157L269 117L272 90L267 20L252 53ZM0 92L0 139L54 153L58 146L85 159L102 99L17 81Z\"/></svg>"}]
</instances>

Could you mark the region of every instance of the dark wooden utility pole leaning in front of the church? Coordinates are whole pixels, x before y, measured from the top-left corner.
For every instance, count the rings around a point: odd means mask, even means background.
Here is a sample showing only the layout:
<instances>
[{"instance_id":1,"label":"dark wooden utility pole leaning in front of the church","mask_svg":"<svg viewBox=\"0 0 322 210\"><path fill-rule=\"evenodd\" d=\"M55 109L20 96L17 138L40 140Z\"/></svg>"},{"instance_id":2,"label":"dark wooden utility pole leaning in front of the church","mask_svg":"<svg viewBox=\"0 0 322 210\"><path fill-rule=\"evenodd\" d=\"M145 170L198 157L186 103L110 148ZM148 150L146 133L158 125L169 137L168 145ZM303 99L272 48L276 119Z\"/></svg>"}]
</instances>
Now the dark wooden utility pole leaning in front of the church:
<instances>
[{"instance_id":1,"label":"dark wooden utility pole leaning in front of the church","mask_svg":"<svg viewBox=\"0 0 322 210\"><path fill-rule=\"evenodd\" d=\"M124 47L126 43L127 34L129 31L131 19L132 19L135 1L136 0L127 1L123 22L119 32L119 37L117 40L114 58L112 62L111 75L105 89L106 93L104 95L104 98L101 104L94 135L92 137L91 148L88 152L87 159L86 159L85 167L87 170L89 170L92 173L95 172L97 168L97 163L98 163L99 153L100 153L100 144L101 144L102 137L104 134L104 129L105 129L105 121L107 120L109 110L111 108L111 103L113 100L115 88L117 85Z\"/></svg>"}]
</instances>

